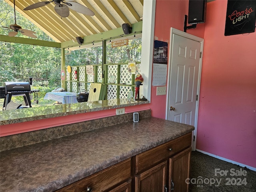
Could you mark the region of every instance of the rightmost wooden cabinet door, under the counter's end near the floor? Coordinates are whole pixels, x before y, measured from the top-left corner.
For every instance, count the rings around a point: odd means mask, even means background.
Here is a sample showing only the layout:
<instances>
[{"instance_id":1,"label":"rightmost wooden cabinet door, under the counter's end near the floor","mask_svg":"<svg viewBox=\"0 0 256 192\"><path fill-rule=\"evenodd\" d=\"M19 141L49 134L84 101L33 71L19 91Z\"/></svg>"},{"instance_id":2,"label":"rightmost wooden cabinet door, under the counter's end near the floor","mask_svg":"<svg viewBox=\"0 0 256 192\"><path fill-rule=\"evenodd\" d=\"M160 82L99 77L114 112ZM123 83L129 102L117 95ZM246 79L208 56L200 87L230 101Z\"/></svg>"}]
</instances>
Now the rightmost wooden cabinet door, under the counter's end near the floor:
<instances>
[{"instance_id":1,"label":"rightmost wooden cabinet door, under the counter's end near the floor","mask_svg":"<svg viewBox=\"0 0 256 192\"><path fill-rule=\"evenodd\" d=\"M191 147L170 158L169 191L188 192Z\"/></svg>"}]
</instances>

